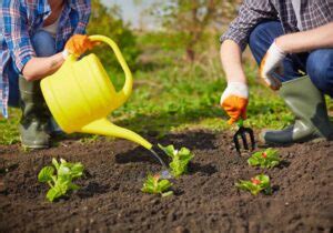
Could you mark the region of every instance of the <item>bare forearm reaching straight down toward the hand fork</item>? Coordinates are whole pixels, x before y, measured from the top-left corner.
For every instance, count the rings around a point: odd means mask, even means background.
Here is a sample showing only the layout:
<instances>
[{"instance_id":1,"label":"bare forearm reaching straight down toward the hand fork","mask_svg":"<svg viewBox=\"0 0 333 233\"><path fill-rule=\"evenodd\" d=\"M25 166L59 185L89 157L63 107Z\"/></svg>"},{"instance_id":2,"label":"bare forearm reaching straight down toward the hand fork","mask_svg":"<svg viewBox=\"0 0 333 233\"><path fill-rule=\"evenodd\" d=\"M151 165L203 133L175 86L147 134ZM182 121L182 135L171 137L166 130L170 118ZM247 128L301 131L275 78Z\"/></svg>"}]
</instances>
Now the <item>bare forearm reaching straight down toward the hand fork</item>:
<instances>
[{"instance_id":1,"label":"bare forearm reaching straight down toward the hand fork","mask_svg":"<svg viewBox=\"0 0 333 233\"><path fill-rule=\"evenodd\" d=\"M221 45L221 61L228 82L246 83L242 68L242 51L239 44L232 40L225 40Z\"/></svg>"}]
</instances>

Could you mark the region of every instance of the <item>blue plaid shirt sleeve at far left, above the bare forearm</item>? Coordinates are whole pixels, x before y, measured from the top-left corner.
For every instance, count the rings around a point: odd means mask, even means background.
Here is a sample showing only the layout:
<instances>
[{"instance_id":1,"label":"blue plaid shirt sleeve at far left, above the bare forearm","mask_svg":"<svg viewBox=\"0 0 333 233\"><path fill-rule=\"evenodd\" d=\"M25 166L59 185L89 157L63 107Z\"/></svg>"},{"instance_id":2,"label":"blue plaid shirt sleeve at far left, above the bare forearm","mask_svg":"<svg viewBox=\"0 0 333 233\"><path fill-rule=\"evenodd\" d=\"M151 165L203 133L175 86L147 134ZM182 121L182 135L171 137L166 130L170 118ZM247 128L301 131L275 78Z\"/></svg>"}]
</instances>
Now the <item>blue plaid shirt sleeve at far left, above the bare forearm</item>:
<instances>
[{"instance_id":1,"label":"blue plaid shirt sleeve at far left, above the bare forearm","mask_svg":"<svg viewBox=\"0 0 333 233\"><path fill-rule=\"evenodd\" d=\"M27 62L36 57L28 31L27 10L19 0L6 0L2 8L6 43L17 70L21 73Z\"/></svg>"}]
</instances>

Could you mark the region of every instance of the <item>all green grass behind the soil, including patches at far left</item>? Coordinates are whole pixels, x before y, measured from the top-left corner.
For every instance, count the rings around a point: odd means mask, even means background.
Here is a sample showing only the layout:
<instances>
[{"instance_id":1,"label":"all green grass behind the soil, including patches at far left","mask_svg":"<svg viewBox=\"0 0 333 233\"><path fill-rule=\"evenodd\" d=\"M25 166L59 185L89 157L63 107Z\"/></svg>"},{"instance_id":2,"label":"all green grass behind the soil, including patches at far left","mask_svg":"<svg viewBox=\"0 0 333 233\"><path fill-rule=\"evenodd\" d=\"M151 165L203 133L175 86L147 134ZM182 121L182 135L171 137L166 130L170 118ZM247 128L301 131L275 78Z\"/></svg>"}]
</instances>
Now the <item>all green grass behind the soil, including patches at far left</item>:
<instances>
[{"instance_id":1,"label":"all green grass behind the soil, including patches at far left","mask_svg":"<svg viewBox=\"0 0 333 233\"><path fill-rule=\"evenodd\" d=\"M144 41L142 51L141 69L134 72L133 94L110 115L113 123L155 136L185 129L231 129L226 124L228 116L219 107L226 83L218 48L200 54L193 64L184 61L179 48L159 48L155 41ZM123 74L110 69L108 72L120 89ZM245 124L254 129L281 129L293 120L293 115L276 93L258 82L256 72L256 67L248 61L245 73L250 80L251 101ZM329 108L333 111L331 100ZM9 121L0 119L0 144L18 142L19 115L18 110L11 110Z\"/></svg>"}]
</instances>

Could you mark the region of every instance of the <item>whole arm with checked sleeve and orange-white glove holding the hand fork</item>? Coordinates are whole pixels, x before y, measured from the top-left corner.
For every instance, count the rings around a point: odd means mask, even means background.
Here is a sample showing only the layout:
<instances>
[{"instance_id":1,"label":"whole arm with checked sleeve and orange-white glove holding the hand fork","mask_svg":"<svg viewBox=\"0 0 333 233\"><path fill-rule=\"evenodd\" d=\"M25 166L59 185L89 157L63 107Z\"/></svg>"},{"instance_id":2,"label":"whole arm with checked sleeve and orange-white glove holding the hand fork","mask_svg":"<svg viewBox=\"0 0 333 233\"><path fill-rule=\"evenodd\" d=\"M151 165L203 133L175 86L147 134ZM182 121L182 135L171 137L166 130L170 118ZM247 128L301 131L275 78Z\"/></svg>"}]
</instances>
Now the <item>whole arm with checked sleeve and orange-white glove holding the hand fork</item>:
<instances>
[{"instance_id":1,"label":"whole arm with checked sleeve and orange-white glove holding the hand fork","mask_svg":"<svg viewBox=\"0 0 333 233\"><path fill-rule=\"evenodd\" d=\"M273 20L275 17L275 10L269 1L245 0L239 17L221 37L221 61L228 87L221 97L220 104L230 115L230 124L246 118L249 88L242 67L242 51L248 44L249 34L260 21Z\"/></svg>"}]
</instances>

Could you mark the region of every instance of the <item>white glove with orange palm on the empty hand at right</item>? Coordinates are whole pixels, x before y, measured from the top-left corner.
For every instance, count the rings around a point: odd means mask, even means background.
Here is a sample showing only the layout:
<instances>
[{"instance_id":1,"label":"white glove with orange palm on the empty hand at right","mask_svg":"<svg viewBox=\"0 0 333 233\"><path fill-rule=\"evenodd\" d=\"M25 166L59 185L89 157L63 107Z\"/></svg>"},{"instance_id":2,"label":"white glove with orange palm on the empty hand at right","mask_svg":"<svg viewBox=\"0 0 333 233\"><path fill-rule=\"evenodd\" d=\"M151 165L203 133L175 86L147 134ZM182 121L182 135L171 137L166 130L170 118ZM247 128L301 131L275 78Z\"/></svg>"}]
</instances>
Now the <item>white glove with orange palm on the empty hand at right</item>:
<instances>
[{"instance_id":1,"label":"white glove with orange palm on the empty hand at right","mask_svg":"<svg viewBox=\"0 0 333 233\"><path fill-rule=\"evenodd\" d=\"M282 61L286 53L274 41L260 64L260 78L273 90L281 88L281 81L274 78L274 72L283 70Z\"/></svg>"}]
</instances>

